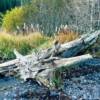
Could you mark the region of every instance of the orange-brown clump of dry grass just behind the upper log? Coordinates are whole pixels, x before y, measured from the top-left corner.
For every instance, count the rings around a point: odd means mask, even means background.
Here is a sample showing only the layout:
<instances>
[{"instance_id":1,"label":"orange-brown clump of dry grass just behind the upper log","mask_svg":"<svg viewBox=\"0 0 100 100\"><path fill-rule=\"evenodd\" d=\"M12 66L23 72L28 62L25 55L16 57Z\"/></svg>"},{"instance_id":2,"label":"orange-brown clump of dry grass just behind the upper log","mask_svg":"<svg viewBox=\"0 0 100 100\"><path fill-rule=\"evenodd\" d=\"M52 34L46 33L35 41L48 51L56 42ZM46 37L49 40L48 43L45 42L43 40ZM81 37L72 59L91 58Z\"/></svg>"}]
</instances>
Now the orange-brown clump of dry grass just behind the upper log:
<instances>
[{"instance_id":1,"label":"orange-brown clump of dry grass just behind the upper log","mask_svg":"<svg viewBox=\"0 0 100 100\"><path fill-rule=\"evenodd\" d=\"M75 40L76 38L78 38L78 33L71 30L60 31L55 37L55 39L58 40L60 43L69 42Z\"/></svg>"}]
</instances>

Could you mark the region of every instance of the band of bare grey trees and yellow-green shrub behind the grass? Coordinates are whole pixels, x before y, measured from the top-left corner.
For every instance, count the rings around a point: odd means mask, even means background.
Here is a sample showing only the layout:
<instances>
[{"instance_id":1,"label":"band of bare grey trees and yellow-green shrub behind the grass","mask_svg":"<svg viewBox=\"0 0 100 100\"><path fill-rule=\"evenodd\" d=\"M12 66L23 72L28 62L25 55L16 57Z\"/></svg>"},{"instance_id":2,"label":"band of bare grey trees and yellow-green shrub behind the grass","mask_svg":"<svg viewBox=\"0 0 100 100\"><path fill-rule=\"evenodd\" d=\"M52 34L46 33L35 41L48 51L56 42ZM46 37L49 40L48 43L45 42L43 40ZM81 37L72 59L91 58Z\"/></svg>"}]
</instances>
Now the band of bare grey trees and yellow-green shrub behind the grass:
<instances>
[{"instance_id":1,"label":"band of bare grey trees and yellow-green shrub behind the grass","mask_svg":"<svg viewBox=\"0 0 100 100\"><path fill-rule=\"evenodd\" d=\"M21 7L23 10L12 10L4 18L4 22L7 24L8 21L11 21L11 24L14 23L12 24L14 29L17 25L22 26L24 23L27 25L33 24L33 26L39 25L40 30L49 35L59 31L59 27L63 25L68 25L78 33L86 33L100 27L100 0L18 1L20 1L20 6L24 5ZM16 19L13 16L16 16Z\"/></svg>"}]
</instances>

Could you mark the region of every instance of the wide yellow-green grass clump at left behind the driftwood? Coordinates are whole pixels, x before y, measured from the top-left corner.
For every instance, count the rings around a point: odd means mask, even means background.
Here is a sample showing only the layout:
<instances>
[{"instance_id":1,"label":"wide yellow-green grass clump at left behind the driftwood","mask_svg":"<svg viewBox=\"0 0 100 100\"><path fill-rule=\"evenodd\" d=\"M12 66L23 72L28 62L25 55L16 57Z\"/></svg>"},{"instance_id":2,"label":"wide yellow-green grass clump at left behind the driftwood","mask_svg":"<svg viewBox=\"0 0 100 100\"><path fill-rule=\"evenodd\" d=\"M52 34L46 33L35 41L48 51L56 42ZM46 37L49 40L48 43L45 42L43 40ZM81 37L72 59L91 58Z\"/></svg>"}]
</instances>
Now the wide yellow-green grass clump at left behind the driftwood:
<instances>
[{"instance_id":1,"label":"wide yellow-green grass clump at left behind the driftwood","mask_svg":"<svg viewBox=\"0 0 100 100\"><path fill-rule=\"evenodd\" d=\"M26 55L48 40L48 37L40 33L32 33L27 36L0 33L0 58L3 60L15 58L14 48L21 54Z\"/></svg>"}]
</instances>

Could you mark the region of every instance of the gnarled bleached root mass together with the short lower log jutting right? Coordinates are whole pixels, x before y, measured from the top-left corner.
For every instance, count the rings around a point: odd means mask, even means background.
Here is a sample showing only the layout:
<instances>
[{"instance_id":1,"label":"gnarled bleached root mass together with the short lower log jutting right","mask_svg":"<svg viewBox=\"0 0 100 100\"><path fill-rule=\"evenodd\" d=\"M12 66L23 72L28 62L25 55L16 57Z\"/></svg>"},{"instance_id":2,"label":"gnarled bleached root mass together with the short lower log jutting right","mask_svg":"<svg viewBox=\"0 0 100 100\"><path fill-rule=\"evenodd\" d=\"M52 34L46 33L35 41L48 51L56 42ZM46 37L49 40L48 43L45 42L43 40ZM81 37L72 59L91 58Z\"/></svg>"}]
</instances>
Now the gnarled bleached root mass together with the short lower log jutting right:
<instances>
[{"instance_id":1,"label":"gnarled bleached root mass together with the short lower log jutting right","mask_svg":"<svg viewBox=\"0 0 100 100\"><path fill-rule=\"evenodd\" d=\"M22 79L26 80L28 78L35 78L38 82L50 87L53 86L51 78L53 77L53 72L56 69L62 67L68 68L73 65L82 64L83 62L92 59L92 56L90 54L86 54L72 58L52 59L52 61L50 58L50 60L48 60L49 62L46 61L44 64L40 61L32 62L32 64L30 64L28 61L26 63L26 60L24 60L24 62L23 60L21 61L21 59L23 59L23 57L20 58L20 64L18 67L19 74Z\"/></svg>"}]
</instances>

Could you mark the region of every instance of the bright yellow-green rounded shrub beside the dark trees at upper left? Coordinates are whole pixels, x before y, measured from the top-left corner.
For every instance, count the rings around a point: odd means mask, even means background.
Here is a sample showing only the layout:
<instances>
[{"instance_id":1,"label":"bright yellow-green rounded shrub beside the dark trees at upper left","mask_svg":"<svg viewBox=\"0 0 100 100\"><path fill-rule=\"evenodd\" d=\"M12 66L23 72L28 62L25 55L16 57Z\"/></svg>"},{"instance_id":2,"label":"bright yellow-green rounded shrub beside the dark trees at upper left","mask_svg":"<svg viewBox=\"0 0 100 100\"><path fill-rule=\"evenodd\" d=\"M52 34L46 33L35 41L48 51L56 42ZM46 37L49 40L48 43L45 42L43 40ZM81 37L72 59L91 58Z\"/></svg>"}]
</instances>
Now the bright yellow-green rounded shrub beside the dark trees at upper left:
<instances>
[{"instance_id":1,"label":"bright yellow-green rounded shrub beside the dark trees at upper left","mask_svg":"<svg viewBox=\"0 0 100 100\"><path fill-rule=\"evenodd\" d=\"M3 17L2 27L11 32L16 29L16 26L21 26L25 21L24 10L22 7L16 7L11 11L7 11Z\"/></svg>"}]
</instances>

